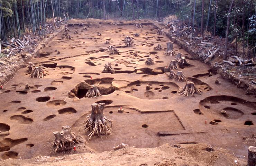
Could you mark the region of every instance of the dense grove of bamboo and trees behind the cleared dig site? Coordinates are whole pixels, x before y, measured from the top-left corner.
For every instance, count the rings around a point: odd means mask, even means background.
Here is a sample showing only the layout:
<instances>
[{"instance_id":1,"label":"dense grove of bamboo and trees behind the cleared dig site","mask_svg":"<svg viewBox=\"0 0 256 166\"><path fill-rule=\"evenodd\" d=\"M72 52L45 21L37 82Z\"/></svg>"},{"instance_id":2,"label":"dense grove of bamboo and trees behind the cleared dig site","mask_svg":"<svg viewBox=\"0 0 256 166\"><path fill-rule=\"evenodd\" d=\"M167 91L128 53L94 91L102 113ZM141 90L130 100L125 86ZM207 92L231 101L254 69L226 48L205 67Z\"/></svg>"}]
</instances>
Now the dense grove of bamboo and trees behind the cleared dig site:
<instances>
[{"instance_id":1,"label":"dense grove of bamboo and trees behind the cleared dig site","mask_svg":"<svg viewBox=\"0 0 256 166\"><path fill-rule=\"evenodd\" d=\"M1 40L23 33L44 35L46 26L69 18L161 20L182 23L213 36L256 46L255 0L0 0ZM53 17L54 16L54 17ZM53 21L54 20L54 21ZM47 22L54 22L47 25ZM227 33L226 33L227 32Z\"/></svg>"}]
</instances>

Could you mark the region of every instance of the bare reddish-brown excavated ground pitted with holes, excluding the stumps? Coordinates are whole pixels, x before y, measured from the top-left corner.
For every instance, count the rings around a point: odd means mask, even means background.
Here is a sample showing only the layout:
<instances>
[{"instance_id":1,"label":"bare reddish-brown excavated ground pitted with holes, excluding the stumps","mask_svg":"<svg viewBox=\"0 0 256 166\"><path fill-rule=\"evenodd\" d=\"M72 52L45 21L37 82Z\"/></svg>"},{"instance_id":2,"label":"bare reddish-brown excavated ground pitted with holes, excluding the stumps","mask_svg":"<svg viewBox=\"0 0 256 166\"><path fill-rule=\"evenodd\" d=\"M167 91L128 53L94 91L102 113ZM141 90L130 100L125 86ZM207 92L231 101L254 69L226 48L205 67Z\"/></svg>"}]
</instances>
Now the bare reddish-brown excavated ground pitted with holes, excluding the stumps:
<instances>
[{"instance_id":1,"label":"bare reddish-brown excavated ground pitted with holes, excluding the stumps","mask_svg":"<svg viewBox=\"0 0 256 166\"><path fill-rule=\"evenodd\" d=\"M157 36L153 25L139 29L133 25L96 25L83 32L79 26L69 29L72 40L61 40L59 34L38 53L38 58L31 60L44 67L43 79L31 79L27 68L22 68L1 91L2 159L63 155L51 154L53 131L68 125L88 139L83 133L83 122L94 102L106 104L104 114L113 121L112 133L92 138L77 147L77 153L110 151L121 143L136 148L207 143L247 159L247 148L256 146L255 139L251 139L256 135L255 98L223 80L207 64L194 60L189 60L190 66L181 71L202 90L202 95L175 95L185 82L169 79L169 73L163 73L175 57L165 56L165 50L154 50L157 44L166 49L169 39ZM75 30L79 34L74 35ZM98 31L102 36L97 36ZM133 36L135 33L140 36ZM126 36L134 38L134 47L124 47ZM118 47L119 55L108 55L109 45L104 44L107 39L110 45ZM174 45L174 50L191 59L179 46ZM145 64L148 57L154 60L153 65ZM102 73L108 62L116 74ZM220 85L214 83L216 79ZM88 87L82 86L84 82L97 84L103 95L84 98L88 91ZM23 91L26 83L31 86L28 92ZM150 91L146 91L147 84L152 85ZM69 91L77 92L77 99L67 98ZM120 106L124 113L117 112ZM227 111L226 116L221 110ZM159 136L158 132L167 136Z\"/></svg>"}]
</instances>

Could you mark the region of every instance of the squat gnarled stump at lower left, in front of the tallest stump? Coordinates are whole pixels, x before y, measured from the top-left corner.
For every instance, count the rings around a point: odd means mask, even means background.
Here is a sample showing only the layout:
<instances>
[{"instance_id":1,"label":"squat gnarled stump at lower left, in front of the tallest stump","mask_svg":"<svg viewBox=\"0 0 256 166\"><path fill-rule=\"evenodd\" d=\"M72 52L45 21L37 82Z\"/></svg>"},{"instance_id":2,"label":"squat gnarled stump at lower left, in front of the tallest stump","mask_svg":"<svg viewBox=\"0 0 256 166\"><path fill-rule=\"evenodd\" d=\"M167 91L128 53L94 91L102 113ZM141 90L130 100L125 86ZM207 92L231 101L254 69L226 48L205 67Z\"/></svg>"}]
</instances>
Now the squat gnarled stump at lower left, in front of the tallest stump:
<instances>
[{"instance_id":1,"label":"squat gnarled stump at lower left, in front of the tallest stump","mask_svg":"<svg viewBox=\"0 0 256 166\"><path fill-rule=\"evenodd\" d=\"M62 126L61 131L53 132L55 140L52 143L52 151L71 150L75 144L83 142L81 138L77 137L70 126Z\"/></svg>"}]
</instances>

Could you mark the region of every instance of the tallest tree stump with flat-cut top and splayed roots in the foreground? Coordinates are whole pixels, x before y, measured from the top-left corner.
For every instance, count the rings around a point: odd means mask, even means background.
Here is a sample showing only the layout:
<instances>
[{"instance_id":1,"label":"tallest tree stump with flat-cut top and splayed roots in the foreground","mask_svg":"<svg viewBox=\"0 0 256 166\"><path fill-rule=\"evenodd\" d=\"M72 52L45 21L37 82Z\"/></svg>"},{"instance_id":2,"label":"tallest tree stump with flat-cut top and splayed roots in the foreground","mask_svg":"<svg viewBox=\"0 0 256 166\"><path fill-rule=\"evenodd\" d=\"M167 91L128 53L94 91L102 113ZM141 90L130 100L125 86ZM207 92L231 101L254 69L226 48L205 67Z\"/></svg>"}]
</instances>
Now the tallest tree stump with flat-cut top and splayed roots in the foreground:
<instances>
[{"instance_id":1,"label":"tallest tree stump with flat-cut top and splayed roots in the foreground","mask_svg":"<svg viewBox=\"0 0 256 166\"><path fill-rule=\"evenodd\" d=\"M84 132L90 132L88 141L92 136L94 137L94 134L100 136L100 134L109 135L111 133L112 121L104 116L104 106L104 103L92 104L92 113L87 116L87 120L84 122Z\"/></svg>"}]
</instances>

